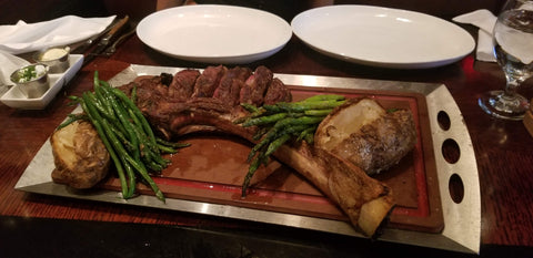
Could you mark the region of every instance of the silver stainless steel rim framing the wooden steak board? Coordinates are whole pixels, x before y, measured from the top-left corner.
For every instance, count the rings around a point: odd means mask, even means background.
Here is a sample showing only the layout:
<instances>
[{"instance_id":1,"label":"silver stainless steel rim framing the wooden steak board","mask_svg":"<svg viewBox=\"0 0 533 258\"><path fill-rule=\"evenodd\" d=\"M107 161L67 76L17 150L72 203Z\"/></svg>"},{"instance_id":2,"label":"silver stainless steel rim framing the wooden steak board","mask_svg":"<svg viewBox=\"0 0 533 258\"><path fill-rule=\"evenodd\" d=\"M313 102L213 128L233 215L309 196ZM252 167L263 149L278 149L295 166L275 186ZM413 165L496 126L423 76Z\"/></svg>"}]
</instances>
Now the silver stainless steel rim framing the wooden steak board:
<instances>
[{"instance_id":1,"label":"silver stainless steel rim framing the wooden steak board","mask_svg":"<svg viewBox=\"0 0 533 258\"><path fill-rule=\"evenodd\" d=\"M124 82L130 82L139 75L159 74L161 72L175 73L180 70L183 70L183 68L131 64L129 68L109 80L109 82L112 85L122 85ZM274 76L289 85L324 89L338 87L372 91L404 91L423 94L426 100L430 116L429 121L432 131L434 158L444 216L444 229L440 234L431 234L386 228L379 239L383 241L479 254L481 239L481 196L474 149L459 106L444 84L282 73L275 73ZM356 85L356 87L353 85ZM443 130L439 125L436 118L439 112L444 112L450 117L451 127L449 130ZM461 157L454 164L446 162L442 153L439 152L445 140L454 140L460 147ZM19 178L14 187L16 189L70 198L205 214L328 231L353 237L363 237L349 223L325 218L183 199L169 198L165 204L162 204L154 196L148 195L141 195L133 199L123 200L120 198L120 193L111 190L94 190L91 192L90 195L78 195L64 185L54 184L49 174L40 173L39 175L39 173L37 173L46 167L42 161L52 158L50 148L50 143L47 140L41 149L36 154L36 157L40 158L34 157L29 164L22 176ZM459 175L464 186L465 194L462 202L459 204L452 200L449 193L449 182L452 175ZM464 230L464 228L469 228L469 230Z\"/></svg>"}]
</instances>

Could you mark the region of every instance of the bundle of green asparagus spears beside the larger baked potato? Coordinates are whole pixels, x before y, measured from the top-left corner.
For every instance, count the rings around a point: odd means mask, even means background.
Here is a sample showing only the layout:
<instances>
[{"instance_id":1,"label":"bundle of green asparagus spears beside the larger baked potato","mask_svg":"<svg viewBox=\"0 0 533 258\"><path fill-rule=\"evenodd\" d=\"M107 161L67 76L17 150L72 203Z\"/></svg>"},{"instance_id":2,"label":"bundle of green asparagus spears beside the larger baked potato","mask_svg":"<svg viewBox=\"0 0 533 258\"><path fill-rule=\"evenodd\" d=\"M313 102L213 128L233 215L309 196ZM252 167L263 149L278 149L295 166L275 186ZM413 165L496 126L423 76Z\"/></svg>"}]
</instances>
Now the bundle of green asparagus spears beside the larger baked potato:
<instances>
[{"instance_id":1,"label":"bundle of green asparagus spears beside the larger baked potato","mask_svg":"<svg viewBox=\"0 0 533 258\"><path fill-rule=\"evenodd\" d=\"M258 126L258 133L253 136L259 141L250 151L248 174L242 183L242 196L247 195L250 180L261 164L265 164L280 146L291 141L305 141L312 143L314 132L320 122L331 111L342 105L345 97L342 95L314 95L300 102L280 102L261 107L244 105L250 115L235 121L242 126Z\"/></svg>"}]
</instances>

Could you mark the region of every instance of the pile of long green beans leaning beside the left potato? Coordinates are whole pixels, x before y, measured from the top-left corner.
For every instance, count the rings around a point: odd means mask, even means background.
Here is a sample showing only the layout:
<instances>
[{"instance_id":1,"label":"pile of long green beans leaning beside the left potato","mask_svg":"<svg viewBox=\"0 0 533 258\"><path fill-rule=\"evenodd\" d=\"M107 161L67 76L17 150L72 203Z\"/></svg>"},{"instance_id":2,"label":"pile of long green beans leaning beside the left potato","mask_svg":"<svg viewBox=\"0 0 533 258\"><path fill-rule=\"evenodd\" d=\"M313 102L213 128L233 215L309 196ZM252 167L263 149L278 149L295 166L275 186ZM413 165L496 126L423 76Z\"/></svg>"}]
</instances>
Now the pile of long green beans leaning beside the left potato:
<instances>
[{"instance_id":1,"label":"pile of long green beans leaning beside the left potato","mask_svg":"<svg viewBox=\"0 0 533 258\"><path fill-rule=\"evenodd\" d=\"M81 105L83 114L69 116L58 128L76 120L91 122L117 168L122 197L128 199L134 196L139 177L164 202L164 195L150 173L161 173L169 165L170 161L163 158L162 154L177 153L178 148L189 144L170 143L157 137L134 103L134 92L131 99L128 97L122 91L99 80L98 72L94 73L93 89L94 92L84 92L81 97L69 97Z\"/></svg>"}]
</instances>

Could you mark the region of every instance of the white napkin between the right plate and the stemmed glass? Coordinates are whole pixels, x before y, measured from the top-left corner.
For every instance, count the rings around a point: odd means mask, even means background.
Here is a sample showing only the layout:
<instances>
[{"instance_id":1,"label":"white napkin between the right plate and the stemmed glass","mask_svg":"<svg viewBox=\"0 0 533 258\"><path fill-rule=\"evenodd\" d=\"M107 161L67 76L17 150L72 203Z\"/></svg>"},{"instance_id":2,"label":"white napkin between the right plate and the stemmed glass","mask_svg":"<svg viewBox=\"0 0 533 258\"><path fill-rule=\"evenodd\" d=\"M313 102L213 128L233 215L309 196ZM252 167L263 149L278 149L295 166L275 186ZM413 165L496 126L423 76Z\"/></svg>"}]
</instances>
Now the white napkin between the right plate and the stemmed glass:
<instances>
[{"instance_id":1,"label":"white napkin between the right plate and the stemmed glass","mask_svg":"<svg viewBox=\"0 0 533 258\"><path fill-rule=\"evenodd\" d=\"M469 12L452 20L460 23L473 24L480 30L477 31L477 48L475 50L475 56L480 61L495 62L496 59L493 54L492 43L492 30L496 23L496 17L486 9Z\"/></svg>"}]
</instances>

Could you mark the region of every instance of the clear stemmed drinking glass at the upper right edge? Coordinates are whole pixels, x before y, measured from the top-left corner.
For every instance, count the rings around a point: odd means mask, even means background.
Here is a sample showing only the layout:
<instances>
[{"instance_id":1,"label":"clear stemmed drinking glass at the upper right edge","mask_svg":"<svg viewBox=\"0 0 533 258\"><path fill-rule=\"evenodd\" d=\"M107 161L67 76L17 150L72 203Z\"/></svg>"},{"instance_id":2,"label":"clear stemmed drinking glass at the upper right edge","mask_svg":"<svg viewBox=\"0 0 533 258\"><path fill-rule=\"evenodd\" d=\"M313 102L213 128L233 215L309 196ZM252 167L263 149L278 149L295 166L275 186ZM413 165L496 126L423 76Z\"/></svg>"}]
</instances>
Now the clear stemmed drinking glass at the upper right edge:
<instances>
[{"instance_id":1,"label":"clear stemmed drinking glass at the upper right edge","mask_svg":"<svg viewBox=\"0 0 533 258\"><path fill-rule=\"evenodd\" d=\"M490 91L479 99L489 114L504 120L522 120L530 107L527 99L516 93L533 75L533 1L507 2L493 31L494 55L505 73L505 89Z\"/></svg>"}]
</instances>

